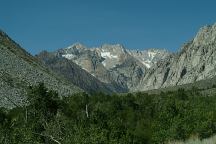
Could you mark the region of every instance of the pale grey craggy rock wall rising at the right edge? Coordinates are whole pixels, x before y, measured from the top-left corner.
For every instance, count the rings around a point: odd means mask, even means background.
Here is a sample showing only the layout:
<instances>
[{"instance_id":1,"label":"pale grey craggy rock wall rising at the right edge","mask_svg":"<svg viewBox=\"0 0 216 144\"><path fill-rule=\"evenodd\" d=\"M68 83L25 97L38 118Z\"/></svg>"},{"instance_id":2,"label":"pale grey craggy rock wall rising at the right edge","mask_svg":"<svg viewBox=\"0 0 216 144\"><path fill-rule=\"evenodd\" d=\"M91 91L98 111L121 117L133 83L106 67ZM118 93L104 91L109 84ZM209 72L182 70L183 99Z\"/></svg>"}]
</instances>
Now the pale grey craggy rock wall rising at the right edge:
<instances>
[{"instance_id":1,"label":"pale grey craggy rock wall rising at the right edge","mask_svg":"<svg viewBox=\"0 0 216 144\"><path fill-rule=\"evenodd\" d=\"M179 53L151 67L136 90L193 83L216 75L216 24L200 29Z\"/></svg>"}]
</instances>

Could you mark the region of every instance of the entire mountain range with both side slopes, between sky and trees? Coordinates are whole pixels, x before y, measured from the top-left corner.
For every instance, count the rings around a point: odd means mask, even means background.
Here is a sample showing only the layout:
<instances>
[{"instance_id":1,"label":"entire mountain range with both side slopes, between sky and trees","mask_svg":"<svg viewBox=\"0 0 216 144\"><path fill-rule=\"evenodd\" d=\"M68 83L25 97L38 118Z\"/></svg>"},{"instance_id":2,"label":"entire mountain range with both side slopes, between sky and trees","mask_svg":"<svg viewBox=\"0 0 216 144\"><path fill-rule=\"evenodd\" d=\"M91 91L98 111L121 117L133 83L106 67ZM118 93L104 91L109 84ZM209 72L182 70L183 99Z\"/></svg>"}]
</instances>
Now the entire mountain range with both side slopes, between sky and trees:
<instances>
[{"instance_id":1,"label":"entire mountain range with both side slopes, between sky and trees","mask_svg":"<svg viewBox=\"0 0 216 144\"><path fill-rule=\"evenodd\" d=\"M76 43L36 56L0 32L0 105L25 102L26 87L43 82L60 95L126 93L213 81L216 24L202 27L177 53L130 50L121 44L88 48Z\"/></svg>"}]
</instances>

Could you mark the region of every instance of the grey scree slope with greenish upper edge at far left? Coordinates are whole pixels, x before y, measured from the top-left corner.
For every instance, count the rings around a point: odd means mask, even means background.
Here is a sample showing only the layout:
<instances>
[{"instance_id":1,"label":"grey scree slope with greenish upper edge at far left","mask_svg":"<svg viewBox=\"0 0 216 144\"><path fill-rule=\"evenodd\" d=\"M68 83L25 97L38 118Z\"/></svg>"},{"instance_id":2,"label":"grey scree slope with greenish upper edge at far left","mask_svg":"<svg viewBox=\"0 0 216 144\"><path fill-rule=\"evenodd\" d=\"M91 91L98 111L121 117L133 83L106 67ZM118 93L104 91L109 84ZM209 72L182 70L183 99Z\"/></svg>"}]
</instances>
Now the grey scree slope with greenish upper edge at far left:
<instances>
[{"instance_id":1,"label":"grey scree slope with greenish upper edge at far left","mask_svg":"<svg viewBox=\"0 0 216 144\"><path fill-rule=\"evenodd\" d=\"M62 96L82 91L58 77L0 31L0 106L22 105L27 86L40 82Z\"/></svg>"}]
</instances>

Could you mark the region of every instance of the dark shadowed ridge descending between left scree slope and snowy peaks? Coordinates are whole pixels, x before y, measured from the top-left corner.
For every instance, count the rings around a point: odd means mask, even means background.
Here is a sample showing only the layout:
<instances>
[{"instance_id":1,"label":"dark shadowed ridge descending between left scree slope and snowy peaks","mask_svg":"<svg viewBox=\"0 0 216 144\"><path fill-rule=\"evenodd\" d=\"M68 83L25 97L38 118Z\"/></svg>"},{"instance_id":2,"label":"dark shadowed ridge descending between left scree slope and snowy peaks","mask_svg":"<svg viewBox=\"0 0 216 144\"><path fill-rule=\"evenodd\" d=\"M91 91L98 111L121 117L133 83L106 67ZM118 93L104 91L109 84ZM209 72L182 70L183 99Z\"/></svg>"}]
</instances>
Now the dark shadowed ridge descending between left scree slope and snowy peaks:
<instances>
[{"instance_id":1,"label":"dark shadowed ridge descending between left scree slope and snowy peaks","mask_svg":"<svg viewBox=\"0 0 216 144\"><path fill-rule=\"evenodd\" d=\"M46 51L41 52L39 55L36 55L36 57L43 61L53 71L64 76L70 82L89 93L100 91L104 93L118 92L112 85L99 81L77 64L64 57L59 57Z\"/></svg>"}]
</instances>

